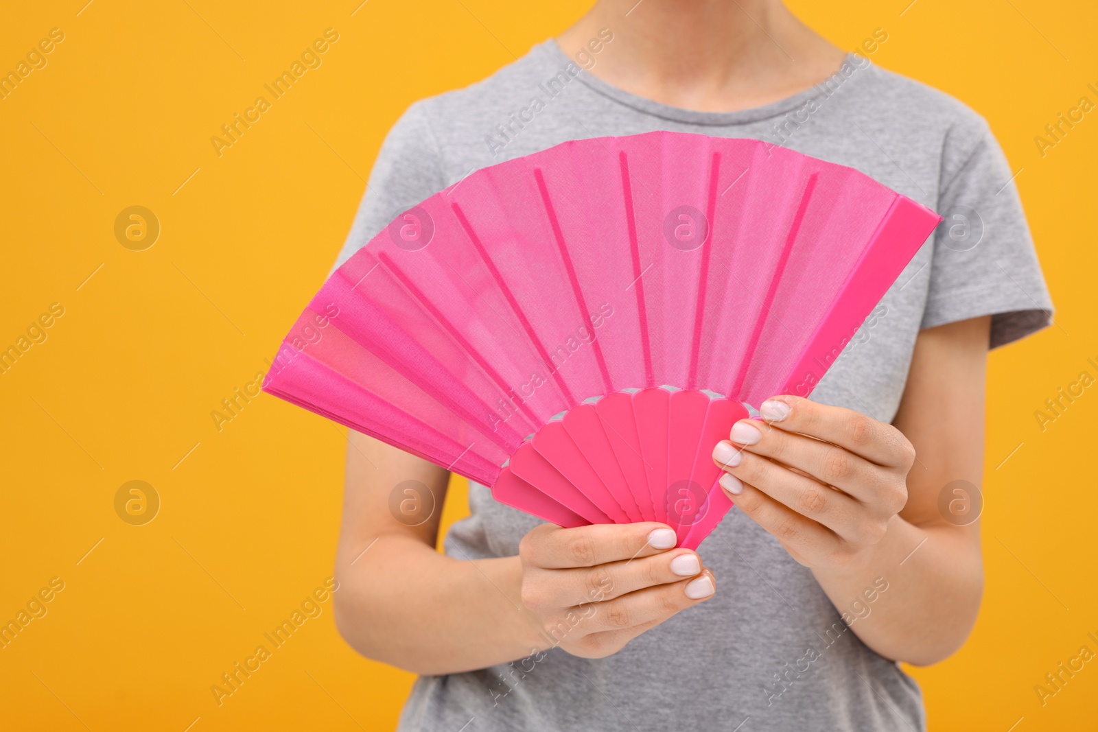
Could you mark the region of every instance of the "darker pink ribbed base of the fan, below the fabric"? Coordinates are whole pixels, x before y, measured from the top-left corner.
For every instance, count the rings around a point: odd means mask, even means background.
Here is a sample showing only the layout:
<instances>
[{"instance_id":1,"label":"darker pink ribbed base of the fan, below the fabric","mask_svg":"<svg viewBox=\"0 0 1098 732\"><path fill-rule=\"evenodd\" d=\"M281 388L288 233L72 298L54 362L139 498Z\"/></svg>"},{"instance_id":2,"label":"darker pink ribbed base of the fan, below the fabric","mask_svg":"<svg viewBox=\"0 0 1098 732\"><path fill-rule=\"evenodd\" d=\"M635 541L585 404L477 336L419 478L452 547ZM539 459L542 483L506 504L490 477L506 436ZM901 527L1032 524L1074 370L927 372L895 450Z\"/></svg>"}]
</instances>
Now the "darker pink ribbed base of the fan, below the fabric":
<instances>
[{"instance_id":1,"label":"darker pink ribbed base of the fan, below the fabric","mask_svg":"<svg viewBox=\"0 0 1098 732\"><path fill-rule=\"evenodd\" d=\"M696 549L731 502L713 448L748 417L697 390L624 390L546 424L515 451L492 495L564 527L660 521Z\"/></svg>"}]
</instances>

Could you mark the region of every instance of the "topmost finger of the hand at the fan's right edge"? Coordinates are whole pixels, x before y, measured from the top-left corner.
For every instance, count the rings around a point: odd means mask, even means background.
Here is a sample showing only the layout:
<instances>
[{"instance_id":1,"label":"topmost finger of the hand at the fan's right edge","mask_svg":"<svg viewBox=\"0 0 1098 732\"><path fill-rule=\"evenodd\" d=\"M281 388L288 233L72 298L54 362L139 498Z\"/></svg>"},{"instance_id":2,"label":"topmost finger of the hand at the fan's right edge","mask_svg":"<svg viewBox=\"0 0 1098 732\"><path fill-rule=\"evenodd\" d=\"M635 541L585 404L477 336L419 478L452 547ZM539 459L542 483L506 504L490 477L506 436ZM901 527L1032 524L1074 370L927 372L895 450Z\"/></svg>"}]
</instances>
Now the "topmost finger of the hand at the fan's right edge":
<instances>
[{"instance_id":1,"label":"topmost finger of the hand at the fan's right edge","mask_svg":"<svg viewBox=\"0 0 1098 732\"><path fill-rule=\"evenodd\" d=\"M901 468L915 461L915 448L898 429L853 409L786 394L763 402L760 414L774 427L838 444L878 465Z\"/></svg>"}]
</instances>

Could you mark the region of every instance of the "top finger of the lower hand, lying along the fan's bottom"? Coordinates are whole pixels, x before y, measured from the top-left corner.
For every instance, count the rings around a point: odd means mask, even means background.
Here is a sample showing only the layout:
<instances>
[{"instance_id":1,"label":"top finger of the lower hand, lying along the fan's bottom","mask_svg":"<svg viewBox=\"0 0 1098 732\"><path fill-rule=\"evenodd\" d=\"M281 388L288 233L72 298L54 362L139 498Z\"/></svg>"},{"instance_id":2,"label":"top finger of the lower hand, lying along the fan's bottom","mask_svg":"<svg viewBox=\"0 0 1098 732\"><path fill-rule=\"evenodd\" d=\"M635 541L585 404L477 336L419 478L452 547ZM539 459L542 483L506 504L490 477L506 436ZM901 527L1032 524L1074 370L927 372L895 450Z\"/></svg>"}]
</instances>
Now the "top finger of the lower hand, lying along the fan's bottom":
<instances>
[{"instance_id":1,"label":"top finger of the lower hand, lying along the fan's bottom","mask_svg":"<svg viewBox=\"0 0 1098 732\"><path fill-rule=\"evenodd\" d=\"M542 523L523 537L518 554L526 564L560 570L651 556L672 549L675 543L675 530L654 521L595 523L574 529Z\"/></svg>"}]
</instances>

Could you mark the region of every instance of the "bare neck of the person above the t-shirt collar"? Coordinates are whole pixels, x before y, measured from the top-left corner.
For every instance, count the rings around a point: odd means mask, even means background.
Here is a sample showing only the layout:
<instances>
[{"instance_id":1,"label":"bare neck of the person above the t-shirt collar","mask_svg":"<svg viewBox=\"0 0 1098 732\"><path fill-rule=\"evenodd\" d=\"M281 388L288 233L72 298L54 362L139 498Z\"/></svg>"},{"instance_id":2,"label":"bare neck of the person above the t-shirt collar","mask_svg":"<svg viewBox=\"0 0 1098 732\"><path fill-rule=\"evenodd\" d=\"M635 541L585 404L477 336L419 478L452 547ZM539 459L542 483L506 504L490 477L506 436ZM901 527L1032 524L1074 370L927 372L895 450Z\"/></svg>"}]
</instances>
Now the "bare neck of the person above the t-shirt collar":
<instances>
[{"instance_id":1,"label":"bare neck of the person above the t-shirt collar","mask_svg":"<svg viewBox=\"0 0 1098 732\"><path fill-rule=\"evenodd\" d=\"M574 55L601 29L614 36L591 74L693 110L778 101L834 74L845 56L778 0L598 0L557 43Z\"/></svg>"}]
</instances>

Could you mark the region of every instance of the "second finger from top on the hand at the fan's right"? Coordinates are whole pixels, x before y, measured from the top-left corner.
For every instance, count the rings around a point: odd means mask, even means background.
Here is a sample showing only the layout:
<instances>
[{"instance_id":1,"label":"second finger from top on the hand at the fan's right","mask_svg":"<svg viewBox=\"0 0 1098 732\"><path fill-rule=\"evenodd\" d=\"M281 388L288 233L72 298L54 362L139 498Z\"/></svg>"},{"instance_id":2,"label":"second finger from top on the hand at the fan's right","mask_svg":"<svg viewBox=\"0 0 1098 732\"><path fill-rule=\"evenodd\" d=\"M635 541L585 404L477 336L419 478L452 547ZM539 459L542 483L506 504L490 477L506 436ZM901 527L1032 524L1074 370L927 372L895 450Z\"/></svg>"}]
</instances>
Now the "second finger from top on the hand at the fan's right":
<instances>
[{"instance_id":1,"label":"second finger from top on the hand at the fan's right","mask_svg":"<svg viewBox=\"0 0 1098 732\"><path fill-rule=\"evenodd\" d=\"M872 498L872 486L881 472L878 465L837 444L776 429L759 419L741 419L736 423L730 438L732 448L742 448L757 455L776 460L783 465L796 468L821 483L841 488L859 500ZM738 458L727 449L721 450L724 460L716 455L717 450L714 450L714 459L722 463L730 463Z\"/></svg>"}]
</instances>

